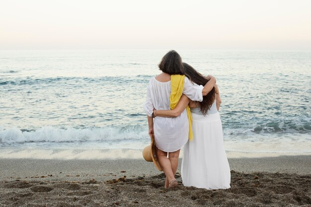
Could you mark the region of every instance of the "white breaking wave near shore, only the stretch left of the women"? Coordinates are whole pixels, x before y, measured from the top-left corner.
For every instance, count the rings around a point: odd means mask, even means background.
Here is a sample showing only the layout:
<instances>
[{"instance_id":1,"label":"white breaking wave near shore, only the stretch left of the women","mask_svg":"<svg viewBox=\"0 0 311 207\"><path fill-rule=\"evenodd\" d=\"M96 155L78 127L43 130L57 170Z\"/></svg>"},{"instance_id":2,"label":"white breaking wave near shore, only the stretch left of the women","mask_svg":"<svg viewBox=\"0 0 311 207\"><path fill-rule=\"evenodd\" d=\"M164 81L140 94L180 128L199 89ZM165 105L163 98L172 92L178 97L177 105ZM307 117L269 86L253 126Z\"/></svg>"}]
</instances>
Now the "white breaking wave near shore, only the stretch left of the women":
<instances>
[{"instance_id":1,"label":"white breaking wave near shore, only the stretch left of the women","mask_svg":"<svg viewBox=\"0 0 311 207\"><path fill-rule=\"evenodd\" d=\"M77 142L77 141L113 141L127 139L146 139L148 131L144 129L85 128L59 129L48 126L36 130L18 128L0 129L0 144L10 145L20 142Z\"/></svg>"}]
</instances>

